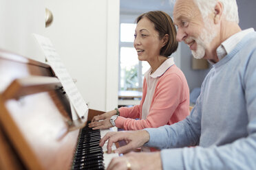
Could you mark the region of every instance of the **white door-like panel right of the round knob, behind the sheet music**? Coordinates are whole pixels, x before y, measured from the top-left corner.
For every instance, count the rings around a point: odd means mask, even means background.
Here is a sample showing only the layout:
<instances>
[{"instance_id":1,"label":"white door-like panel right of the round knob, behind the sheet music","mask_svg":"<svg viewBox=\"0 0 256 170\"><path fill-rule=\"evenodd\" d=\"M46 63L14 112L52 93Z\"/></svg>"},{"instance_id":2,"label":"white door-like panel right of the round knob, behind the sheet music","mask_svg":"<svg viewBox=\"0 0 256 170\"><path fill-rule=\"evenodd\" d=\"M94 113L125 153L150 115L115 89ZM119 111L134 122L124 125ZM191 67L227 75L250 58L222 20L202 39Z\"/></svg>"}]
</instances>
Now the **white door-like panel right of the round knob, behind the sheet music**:
<instances>
[{"instance_id":1,"label":"white door-like panel right of the round knob, behind the sheet music","mask_svg":"<svg viewBox=\"0 0 256 170\"><path fill-rule=\"evenodd\" d=\"M89 108L118 105L119 0L45 0L52 40Z\"/></svg>"}]
</instances>

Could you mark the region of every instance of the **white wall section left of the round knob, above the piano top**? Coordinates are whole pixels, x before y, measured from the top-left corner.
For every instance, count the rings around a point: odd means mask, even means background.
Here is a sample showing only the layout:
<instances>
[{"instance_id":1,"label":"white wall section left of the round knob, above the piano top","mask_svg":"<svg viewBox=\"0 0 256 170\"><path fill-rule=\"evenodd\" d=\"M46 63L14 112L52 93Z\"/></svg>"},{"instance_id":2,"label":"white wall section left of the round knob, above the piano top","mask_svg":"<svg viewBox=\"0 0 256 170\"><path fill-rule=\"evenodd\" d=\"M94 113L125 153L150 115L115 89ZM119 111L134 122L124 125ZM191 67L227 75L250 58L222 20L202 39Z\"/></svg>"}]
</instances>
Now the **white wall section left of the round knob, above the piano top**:
<instances>
[{"instance_id":1,"label":"white wall section left of the round knob, above the piano top","mask_svg":"<svg viewBox=\"0 0 256 170\"><path fill-rule=\"evenodd\" d=\"M45 8L41 0L0 0L0 49L41 62L32 33L45 31Z\"/></svg>"}]
</instances>

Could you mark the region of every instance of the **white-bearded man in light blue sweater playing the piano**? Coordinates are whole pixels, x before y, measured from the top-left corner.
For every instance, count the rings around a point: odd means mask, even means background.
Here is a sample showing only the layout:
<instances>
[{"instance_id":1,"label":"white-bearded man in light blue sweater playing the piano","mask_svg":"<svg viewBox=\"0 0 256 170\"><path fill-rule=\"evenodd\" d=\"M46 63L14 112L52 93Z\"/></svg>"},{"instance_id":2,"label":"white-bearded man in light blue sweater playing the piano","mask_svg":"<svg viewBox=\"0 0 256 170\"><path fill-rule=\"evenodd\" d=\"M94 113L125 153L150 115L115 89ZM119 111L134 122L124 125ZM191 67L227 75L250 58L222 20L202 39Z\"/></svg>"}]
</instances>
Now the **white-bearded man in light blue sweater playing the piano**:
<instances>
[{"instance_id":1,"label":"white-bearded man in light blue sweater playing the piano","mask_svg":"<svg viewBox=\"0 0 256 170\"><path fill-rule=\"evenodd\" d=\"M107 134L108 151L125 153L108 169L256 169L256 33L238 25L235 0L177 0L177 40L213 64L189 117L173 125ZM195 146L195 147L186 147ZM169 149L167 149L169 148ZM175 148L175 149L174 149Z\"/></svg>"}]
</instances>

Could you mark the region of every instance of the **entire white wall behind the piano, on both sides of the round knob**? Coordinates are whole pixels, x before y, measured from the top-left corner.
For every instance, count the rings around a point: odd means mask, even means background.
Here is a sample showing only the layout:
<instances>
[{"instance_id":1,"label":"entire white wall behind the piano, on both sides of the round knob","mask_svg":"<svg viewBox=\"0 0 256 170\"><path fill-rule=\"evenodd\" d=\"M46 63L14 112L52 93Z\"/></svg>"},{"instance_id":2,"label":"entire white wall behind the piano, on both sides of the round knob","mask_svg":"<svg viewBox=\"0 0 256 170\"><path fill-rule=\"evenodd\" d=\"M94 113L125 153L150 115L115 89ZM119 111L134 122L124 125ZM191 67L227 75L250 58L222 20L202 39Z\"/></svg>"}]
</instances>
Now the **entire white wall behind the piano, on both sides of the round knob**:
<instances>
[{"instance_id":1,"label":"entire white wall behind the piano, on both sides of the round knob","mask_svg":"<svg viewBox=\"0 0 256 170\"><path fill-rule=\"evenodd\" d=\"M45 61L32 33L52 40L89 108L118 106L119 0L0 0L0 49ZM45 8L54 21L45 28Z\"/></svg>"}]
</instances>

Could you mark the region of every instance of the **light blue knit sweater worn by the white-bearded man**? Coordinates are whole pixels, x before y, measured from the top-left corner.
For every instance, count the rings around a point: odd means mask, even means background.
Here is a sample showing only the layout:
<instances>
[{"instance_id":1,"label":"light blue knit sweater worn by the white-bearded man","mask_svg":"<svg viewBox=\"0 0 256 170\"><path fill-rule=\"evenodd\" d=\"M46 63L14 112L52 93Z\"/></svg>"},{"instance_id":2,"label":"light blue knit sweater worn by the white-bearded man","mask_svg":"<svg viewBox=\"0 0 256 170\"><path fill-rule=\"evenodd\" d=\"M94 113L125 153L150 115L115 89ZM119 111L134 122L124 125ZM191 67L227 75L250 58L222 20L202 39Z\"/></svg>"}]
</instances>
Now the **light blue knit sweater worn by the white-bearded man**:
<instances>
[{"instance_id":1,"label":"light blue knit sweater worn by the white-bearded man","mask_svg":"<svg viewBox=\"0 0 256 170\"><path fill-rule=\"evenodd\" d=\"M213 64L189 117L146 130L163 169L256 169L256 32Z\"/></svg>"}]
</instances>

